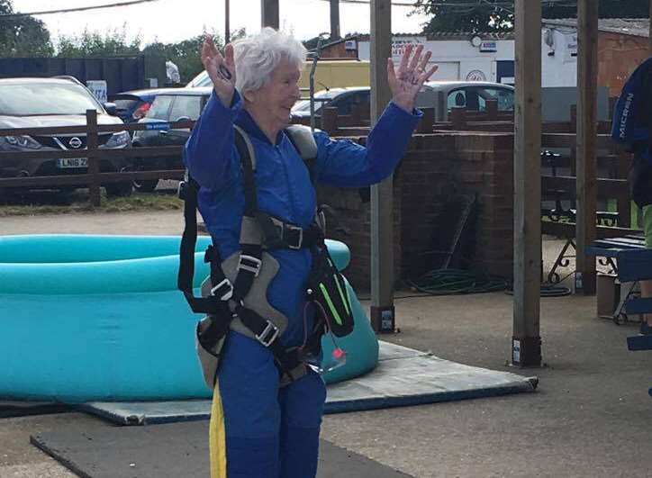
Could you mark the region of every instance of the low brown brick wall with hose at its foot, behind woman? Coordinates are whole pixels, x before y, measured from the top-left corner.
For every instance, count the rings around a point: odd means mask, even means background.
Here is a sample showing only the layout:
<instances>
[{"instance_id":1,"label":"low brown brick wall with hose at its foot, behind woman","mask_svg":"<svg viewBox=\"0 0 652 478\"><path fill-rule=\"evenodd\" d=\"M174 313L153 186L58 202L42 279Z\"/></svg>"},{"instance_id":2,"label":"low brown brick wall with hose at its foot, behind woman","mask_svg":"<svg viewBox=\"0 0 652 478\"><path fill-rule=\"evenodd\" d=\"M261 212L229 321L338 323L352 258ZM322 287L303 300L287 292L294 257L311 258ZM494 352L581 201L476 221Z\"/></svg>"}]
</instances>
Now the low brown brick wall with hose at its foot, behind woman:
<instances>
[{"instance_id":1,"label":"low brown brick wall with hose at its foot, behind woman","mask_svg":"<svg viewBox=\"0 0 652 478\"><path fill-rule=\"evenodd\" d=\"M394 176L394 270L398 281L437 257L427 254L441 236L439 214L458 194L476 198L473 247L466 258L473 268L512 276L513 135L451 132L415 135ZM370 276L370 203L358 190L320 186L321 203L338 212L349 235L329 237L351 249L349 281L368 290ZM331 222L332 223L332 222ZM440 258L440 257L439 257ZM430 262L429 262L430 261ZM434 262L432 262L434 264ZM415 269L416 267L416 269Z\"/></svg>"}]
</instances>

